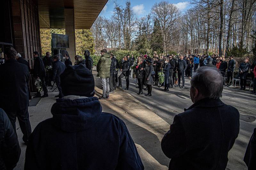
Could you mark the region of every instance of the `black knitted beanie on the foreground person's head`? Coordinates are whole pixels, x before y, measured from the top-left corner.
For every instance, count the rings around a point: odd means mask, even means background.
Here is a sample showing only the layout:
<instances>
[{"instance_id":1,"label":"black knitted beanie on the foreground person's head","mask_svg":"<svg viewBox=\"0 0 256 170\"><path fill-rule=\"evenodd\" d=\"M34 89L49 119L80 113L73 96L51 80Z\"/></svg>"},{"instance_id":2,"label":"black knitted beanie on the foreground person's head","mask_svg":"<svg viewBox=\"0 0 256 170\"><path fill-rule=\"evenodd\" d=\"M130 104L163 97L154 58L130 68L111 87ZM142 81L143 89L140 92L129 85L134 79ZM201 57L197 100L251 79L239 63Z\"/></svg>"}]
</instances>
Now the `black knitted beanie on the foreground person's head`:
<instances>
[{"instance_id":1,"label":"black knitted beanie on the foreground person's head","mask_svg":"<svg viewBox=\"0 0 256 170\"><path fill-rule=\"evenodd\" d=\"M64 96L94 96L94 78L91 71L84 65L68 65L60 75L60 86Z\"/></svg>"}]
</instances>

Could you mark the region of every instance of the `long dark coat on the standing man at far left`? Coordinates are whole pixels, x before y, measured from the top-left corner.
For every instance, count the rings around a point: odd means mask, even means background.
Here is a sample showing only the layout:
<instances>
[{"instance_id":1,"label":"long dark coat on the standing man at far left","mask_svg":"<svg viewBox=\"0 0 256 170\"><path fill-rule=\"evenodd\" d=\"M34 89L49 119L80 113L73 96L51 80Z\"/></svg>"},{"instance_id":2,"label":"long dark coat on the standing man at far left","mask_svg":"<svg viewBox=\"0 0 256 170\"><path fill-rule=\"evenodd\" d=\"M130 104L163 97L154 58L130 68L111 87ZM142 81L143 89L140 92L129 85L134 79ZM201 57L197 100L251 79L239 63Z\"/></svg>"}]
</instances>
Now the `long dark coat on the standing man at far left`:
<instances>
[{"instance_id":1,"label":"long dark coat on the standing man at far left","mask_svg":"<svg viewBox=\"0 0 256 170\"><path fill-rule=\"evenodd\" d=\"M9 59L0 67L0 108L18 111L28 107L28 67Z\"/></svg>"}]
</instances>

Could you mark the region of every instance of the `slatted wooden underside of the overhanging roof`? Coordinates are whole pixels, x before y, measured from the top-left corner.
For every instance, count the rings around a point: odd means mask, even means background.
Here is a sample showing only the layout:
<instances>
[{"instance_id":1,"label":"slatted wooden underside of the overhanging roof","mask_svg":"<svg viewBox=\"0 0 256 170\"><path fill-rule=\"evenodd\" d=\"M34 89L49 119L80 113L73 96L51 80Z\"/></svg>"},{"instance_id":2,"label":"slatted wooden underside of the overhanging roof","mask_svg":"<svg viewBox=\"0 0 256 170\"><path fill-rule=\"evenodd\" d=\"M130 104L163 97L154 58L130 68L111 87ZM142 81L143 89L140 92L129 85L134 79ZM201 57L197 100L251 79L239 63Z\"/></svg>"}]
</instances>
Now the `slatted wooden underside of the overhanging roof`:
<instances>
[{"instance_id":1,"label":"slatted wooden underside of the overhanging roof","mask_svg":"<svg viewBox=\"0 0 256 170\"><path fill-rule=\"evenodd\" d=\"M40 28L65 28L64 9L74 8L75 29L90 29L108 0L37 0Z\"/></svg>"}]
</instances>

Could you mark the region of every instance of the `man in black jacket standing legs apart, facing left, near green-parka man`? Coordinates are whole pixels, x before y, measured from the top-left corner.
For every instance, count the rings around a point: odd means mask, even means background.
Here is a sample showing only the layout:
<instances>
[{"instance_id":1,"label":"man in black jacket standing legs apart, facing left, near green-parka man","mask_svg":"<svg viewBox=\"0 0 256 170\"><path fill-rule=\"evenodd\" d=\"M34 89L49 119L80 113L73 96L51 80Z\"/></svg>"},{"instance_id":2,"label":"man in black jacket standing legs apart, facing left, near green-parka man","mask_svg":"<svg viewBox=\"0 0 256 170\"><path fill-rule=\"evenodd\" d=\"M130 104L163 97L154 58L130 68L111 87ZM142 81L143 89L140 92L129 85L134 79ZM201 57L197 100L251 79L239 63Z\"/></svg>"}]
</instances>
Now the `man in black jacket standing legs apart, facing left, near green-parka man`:
<instances>
[{"instance_id":1,"label":"man in black jacket standing legs apart, facing left, near green-parka man","mask_svg":"<svg viewBox=\"0 0 256 170\"><path fill-rule=\"evenodd\" d=\"M119 86L117 87L122 87L122 78L125 77L126 80L126 88L124 90L129 90L129 75L130 75L130 62L128 61L128 57L125 56L124 57L124 63L121 69L121 74L118 77L118 83Z\"/></svg>"}]
</instances>

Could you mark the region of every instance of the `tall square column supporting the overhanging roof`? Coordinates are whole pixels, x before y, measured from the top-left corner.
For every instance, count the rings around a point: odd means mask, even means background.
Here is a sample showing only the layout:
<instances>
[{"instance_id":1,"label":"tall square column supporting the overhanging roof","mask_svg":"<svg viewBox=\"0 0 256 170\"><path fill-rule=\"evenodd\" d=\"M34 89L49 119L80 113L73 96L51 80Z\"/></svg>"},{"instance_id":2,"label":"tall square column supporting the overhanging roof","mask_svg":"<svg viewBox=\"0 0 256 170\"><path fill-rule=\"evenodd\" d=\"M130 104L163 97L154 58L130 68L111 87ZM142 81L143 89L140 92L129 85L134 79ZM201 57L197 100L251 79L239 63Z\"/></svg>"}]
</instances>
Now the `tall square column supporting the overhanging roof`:
<instances>
[{"instance_id":1,"label":"tall square column supporting the overhanging roof","mask_svg":"<svg viewBox=\"0 0 256 170\"><path fill-rule=\"evenodd\" d=\"M65 32L68 35L69 48L67 48L68 54L72 61L72 64L75 63L76 55L76 37L75 37L75 18L74 18L74 9L65 8Z\"/></svg>"}]
</instances>

